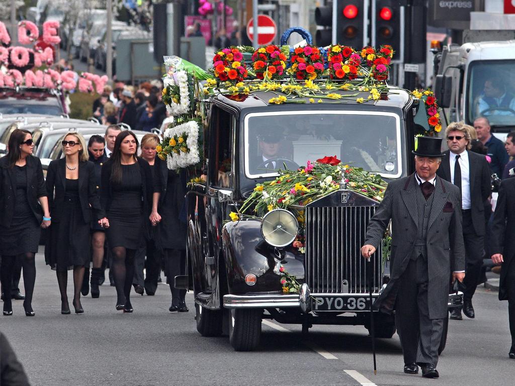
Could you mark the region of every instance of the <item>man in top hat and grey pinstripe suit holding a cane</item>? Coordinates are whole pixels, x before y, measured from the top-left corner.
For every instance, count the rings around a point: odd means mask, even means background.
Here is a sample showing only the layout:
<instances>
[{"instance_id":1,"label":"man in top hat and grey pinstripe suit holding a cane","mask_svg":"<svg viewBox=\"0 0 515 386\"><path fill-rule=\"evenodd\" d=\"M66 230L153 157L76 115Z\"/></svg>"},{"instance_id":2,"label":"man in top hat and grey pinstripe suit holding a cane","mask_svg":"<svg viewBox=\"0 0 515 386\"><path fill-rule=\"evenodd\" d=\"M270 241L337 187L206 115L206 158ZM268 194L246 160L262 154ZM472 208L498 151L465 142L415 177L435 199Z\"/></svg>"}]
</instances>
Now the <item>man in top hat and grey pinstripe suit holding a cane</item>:
<instances>
[{"instance_id":1,"label":"man in top hat and grey pinstripe suit holding a cane","mask_svg":"<svg viewBox=\"0 0 515 386\"><path fill-rule=\"evenodd\" d=\"M416 172L388 184L367 229L362 255L369 258L392 223L391 278L374 303L396 312L404 372L438 378L438 346L447 318L451 272L465 277L459 189L436 176L441 138L419 137Z\"/></svg>"}]
</instances>

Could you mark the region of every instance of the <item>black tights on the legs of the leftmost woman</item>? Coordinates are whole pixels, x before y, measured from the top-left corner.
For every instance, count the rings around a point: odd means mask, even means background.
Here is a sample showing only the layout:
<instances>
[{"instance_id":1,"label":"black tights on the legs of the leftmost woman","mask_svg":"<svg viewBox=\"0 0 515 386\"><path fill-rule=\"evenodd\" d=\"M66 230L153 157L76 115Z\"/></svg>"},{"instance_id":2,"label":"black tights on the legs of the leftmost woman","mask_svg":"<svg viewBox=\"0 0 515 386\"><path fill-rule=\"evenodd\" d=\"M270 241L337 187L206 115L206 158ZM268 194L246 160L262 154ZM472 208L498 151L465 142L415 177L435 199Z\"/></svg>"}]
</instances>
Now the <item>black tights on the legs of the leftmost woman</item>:
<instances>
[{"instance_id":1,"label":"black tights on the legs of the leftmost woman","mask_svg":"<svg viewBox=\"0 0 515 386\"><path fill-rule=\"evenodd\" d=\"M36 283L36 262L35 253L26 252L21 255L23 267L23 285L25 286L25 301L23 306L26 311L32 311L32 294ZM4 289L4 311L12 310L11 285L16 256L2 256L2 266L0 267L0 279Z\"/></svg>"}]
</instances>

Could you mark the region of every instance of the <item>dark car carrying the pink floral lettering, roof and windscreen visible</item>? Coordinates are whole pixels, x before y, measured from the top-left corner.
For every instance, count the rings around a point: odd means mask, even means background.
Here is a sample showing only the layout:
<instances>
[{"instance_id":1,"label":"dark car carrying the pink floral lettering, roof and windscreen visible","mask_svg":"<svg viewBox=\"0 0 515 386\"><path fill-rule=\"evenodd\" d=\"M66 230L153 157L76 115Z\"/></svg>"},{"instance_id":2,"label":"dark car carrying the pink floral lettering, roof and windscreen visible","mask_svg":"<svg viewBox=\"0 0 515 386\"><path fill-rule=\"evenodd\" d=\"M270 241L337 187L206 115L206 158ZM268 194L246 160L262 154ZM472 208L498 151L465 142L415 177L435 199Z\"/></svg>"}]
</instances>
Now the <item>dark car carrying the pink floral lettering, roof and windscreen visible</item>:
<instances>
[{"instance_id":1,"label":"dark car carrying the pink floral lettering, roof and windscreen visible","mask_svg":"<svg viewBox=\"0 0 515 386\"><path fill-rule=\"evenodd\" d=\"M0 114L66 114L62 95L57 90L36 87L0 87Z\"/></svg>"}]
</instances>

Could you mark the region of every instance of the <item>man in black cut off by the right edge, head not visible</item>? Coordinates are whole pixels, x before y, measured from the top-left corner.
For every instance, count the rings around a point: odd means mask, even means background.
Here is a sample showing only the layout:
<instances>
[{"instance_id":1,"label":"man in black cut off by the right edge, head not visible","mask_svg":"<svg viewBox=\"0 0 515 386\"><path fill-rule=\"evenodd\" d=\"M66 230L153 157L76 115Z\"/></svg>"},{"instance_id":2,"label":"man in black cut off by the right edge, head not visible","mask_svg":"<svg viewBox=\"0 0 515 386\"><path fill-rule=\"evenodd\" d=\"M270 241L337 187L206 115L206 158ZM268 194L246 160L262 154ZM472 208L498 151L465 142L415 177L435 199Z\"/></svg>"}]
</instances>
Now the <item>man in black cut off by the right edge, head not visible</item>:
<instances>
[{"instance_id":1,"label":"man in black cut off by the right edge, head not visible","mask_svg":"<svg viewBox=\"0 0 515 386\"><path fill-rule=\"evenodd\" d=\"M492 261L501 265L499 300L508 301L511 347L508 356L515 359L515 178L503 180L493 215ZM511 264L510 264L511 262Z\"/></svg>"}]
</instances>

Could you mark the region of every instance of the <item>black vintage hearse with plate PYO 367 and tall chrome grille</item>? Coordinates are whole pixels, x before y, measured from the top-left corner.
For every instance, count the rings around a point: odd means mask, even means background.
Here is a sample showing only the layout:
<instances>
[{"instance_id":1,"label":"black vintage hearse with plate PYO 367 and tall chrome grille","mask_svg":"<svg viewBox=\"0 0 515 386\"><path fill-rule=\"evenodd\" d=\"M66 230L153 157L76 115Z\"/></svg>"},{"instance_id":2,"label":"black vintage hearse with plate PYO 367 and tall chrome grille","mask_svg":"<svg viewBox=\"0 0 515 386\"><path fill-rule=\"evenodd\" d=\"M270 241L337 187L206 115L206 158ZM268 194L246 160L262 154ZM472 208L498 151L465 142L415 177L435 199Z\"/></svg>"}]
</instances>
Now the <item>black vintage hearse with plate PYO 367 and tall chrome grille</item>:
<instances>
[{"instance_id":1,"label":"black vintage hearse with plate PYO 367 and tall chrome grille","mask_svg":"<svg viewBox=\"0 0 515 386\"><path fill-rule=\"evenodd\" d=\"M365 100L369 95L361 94L357 97ZM369 282L369 268L359 252L378 204L345 185L304 207L305 253L291 244L278 247L277 239L265 240L260 219L230 221L229 213L256 183L277 177L264 165L263 151L270 149L262 143L273 142L277 167L336 155L391 180L414 172L416 121L427 124L419 100L399 89L367 103L306 98L302 104L270 104L273 96L258 91L241 101L220 94L205 101L206 181L187 192L187 261L197 329L203 336L228 334L236 350L258 345L262 319L302 324L304 332L314 324L369 329L370 286L377 296L389 279L388 264L383 265L378 251L371 259ZM284 212L283 220L276 216L272 221L278 222L271 226L295 218ZM305 283L300 293L283 293L281 265ZM455 302L458 296L450 296L449 304ZM393 316L376 312L374 328L377 337L391 338ZM447 330L440 350L446 337Z\"/></svg>"}]
</instances>

